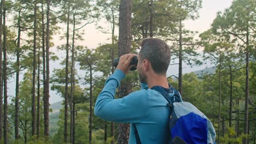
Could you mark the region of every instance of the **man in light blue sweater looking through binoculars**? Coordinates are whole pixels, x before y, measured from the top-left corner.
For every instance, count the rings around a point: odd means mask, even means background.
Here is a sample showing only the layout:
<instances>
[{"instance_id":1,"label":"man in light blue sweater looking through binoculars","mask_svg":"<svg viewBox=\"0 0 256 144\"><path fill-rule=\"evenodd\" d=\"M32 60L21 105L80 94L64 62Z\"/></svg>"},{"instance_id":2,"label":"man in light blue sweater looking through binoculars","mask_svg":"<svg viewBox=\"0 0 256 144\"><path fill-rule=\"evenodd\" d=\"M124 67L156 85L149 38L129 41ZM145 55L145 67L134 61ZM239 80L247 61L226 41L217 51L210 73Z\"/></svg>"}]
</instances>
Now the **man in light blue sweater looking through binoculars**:
<instances>
[{"instance_id":1,"label":"man in light blue sweater looking through binoculars","mask_svg":"<svg viewBox=\"0 0 256 144\"><path fill-rule=\"evenodd\" d=\"M150 88L164 87L172 96L173 92L166 79L171 59L170 48L160 39L143 39L137 64L141 90L124 98L114 99L115 89L120 86L120 81L135 67L130 65L134 56L136 55L127 54L120 57L117 69L98 95L94 113L107 121L131 123L129 143L136 143L136 132L141 143L167 143L170 140L170 107L166 106L167 101L159 92Z\"/></svg>"}]
</instances>

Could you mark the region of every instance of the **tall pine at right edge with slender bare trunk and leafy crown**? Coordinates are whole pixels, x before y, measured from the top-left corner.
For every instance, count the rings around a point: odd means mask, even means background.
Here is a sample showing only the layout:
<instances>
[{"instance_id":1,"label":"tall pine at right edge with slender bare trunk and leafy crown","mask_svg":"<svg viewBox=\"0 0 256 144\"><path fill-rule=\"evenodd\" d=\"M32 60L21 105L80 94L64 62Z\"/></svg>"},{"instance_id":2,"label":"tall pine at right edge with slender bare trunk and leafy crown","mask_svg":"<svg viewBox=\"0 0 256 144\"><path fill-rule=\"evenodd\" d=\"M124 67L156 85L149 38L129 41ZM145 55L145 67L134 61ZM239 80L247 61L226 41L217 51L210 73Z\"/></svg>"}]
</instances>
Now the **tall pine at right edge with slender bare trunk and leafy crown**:
<instances>
[{"instance_id":1,"label":"tall pine at right edge with slender bare trunk and leafy crown","mask_svg":"<svg viewBox=\"0 0 256 144\"><path fill-rule=\"evenodd\" d=\"M234 37L237 45L243 43L241 50L245 52L246 58L246 79L245 79L245 125L244 133L248 134L248 107L249 107L249 52L251 52L253 41L250 35L254 33L255 23L255 2L252 0L241 1L236 0L232 3L229 9L224 13L218 13L213 21L213 29L216 34L228 34ZM245 9L246 8L246 9ZM252 42L253 43L253 42ZM243 143L248 143L248 138L245 137Z\"/></svg>"}]
</instances>

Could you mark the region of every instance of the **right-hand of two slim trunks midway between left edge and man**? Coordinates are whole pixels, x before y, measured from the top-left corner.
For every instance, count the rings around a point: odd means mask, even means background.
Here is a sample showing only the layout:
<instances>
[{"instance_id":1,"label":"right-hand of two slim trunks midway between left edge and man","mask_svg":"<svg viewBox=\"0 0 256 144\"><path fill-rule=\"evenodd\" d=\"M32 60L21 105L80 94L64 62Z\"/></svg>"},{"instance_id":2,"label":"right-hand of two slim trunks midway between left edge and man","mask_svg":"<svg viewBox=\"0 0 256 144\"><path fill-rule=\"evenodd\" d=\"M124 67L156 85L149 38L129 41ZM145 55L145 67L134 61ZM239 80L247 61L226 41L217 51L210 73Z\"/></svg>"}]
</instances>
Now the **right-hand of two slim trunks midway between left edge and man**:
<instances>
[{"instance_id":1,"label":"right-hand of two slim trunks midway between left edge and man","mask_svg":"<svg viewBox=\"0 0 256 144\"><path fill-rule=\"evenodd\" d=\"M73 142L73 93L74 93L74 40L75 40L75 14L73 14L72 58L71 58L71 87L70 87L70 142Z\"/></svg>"}]
</instances>

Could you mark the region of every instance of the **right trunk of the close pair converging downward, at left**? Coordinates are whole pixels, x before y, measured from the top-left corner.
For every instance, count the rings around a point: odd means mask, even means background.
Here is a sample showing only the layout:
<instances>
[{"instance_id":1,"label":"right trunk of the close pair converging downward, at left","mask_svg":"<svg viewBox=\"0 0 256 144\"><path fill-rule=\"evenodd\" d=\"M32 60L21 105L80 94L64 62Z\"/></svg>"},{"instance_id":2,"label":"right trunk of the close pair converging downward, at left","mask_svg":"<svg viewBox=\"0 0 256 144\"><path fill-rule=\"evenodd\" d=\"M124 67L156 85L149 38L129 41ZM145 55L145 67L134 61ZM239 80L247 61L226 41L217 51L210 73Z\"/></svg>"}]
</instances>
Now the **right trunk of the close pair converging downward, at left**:
<instances>
[{"instance_id":1,"label":"right trunk of the close pair converging downward, at left","mask_svg":"<svg viewBox=\"0 0 256 144\"><path fill-rule=\"evenodd\" d=\"M49 48L50 48L50 0L47 0L46 11L46 80L45 80L45 99L44 99L44 136L48 139L49 136L49 81L50 81L50 69L49 69Z\"/></svg>"}]
</instances>

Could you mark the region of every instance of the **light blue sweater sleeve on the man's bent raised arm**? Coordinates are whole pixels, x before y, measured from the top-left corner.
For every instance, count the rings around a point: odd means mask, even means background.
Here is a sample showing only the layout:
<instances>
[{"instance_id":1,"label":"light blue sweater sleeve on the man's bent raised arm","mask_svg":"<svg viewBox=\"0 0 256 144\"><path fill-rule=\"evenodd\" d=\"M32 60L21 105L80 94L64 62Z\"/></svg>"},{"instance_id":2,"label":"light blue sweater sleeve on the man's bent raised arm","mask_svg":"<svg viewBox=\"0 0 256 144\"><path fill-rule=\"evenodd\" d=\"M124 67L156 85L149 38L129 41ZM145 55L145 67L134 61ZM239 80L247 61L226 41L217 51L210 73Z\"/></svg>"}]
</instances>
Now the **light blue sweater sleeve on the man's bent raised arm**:
<instances>
[{"instance_id":1,"label":"light blue sweater sleeve on the man's bent raised arm","mask_svg":"<svg viewBox=\"0 0 256 144\"><path fill-rule=\"evenodd\" d=\"M123 71L118 69L109 77L102 92L98 95L94 113L107 121L138 123L144 116L148 94L145 89L142 89L124 98L114 99L115 89L120 86L120 81L124 77Z\"/></svg>"}]
</instances>

